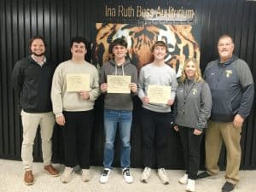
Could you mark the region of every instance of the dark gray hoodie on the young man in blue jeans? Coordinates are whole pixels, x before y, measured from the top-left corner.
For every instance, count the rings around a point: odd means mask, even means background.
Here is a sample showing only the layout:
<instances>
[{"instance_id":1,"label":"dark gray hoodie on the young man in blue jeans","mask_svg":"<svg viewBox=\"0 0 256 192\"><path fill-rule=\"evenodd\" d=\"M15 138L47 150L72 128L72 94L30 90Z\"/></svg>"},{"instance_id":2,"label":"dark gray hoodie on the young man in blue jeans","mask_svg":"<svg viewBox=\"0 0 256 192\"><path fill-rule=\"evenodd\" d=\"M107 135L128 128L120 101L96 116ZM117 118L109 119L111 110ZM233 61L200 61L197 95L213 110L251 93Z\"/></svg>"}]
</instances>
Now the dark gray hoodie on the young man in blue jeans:
<instances>
[{"instance_id":1,"label":"dark gray hoodie on the young man in blue jeans","mask_svg":"<svg viewBox=\"0 0 256 192\"><path fill-rule=\"evenodd\" d=\"M121 66L117 66L116 63L111 60L102 65L102 71L100 76L100 84L108 83L108 75L127 75L131 76L131 83L137 84L137 68L131 64L129 60ZM133 94L120 94L120 93L106 93L104 108L113 110L127 110L132 111Z\"/></svg>"}]
</instances>

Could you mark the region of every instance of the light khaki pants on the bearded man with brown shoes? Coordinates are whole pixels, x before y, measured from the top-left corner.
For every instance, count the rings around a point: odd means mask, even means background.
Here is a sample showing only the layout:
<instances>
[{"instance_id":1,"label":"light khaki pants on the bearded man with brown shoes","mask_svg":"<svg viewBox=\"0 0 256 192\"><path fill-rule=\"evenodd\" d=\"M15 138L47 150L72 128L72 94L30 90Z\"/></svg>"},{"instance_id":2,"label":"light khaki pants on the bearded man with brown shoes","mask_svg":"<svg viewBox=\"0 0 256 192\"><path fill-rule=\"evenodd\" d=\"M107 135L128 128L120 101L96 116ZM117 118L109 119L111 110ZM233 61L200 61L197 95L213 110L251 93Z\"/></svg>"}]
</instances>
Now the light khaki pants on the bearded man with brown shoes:
<instances>
[{"instance_id":1,"label":"light khaki pants on the bearded man with brown shoes","mask_svg":"<svg viewBox=\"0 0 256 192\"><path fill-rule=\"evenodd\" d=\"M42 153L44 166L50 164L51 160L51 137L55 125L55 117L52 112L49 113L26 113L21 111L21 120L23 126L23 142L21 147L21 158L25 170L32 170L32 150L34 139L40 125L40 133L42 139Z\"/></svg>"}]
</instances>

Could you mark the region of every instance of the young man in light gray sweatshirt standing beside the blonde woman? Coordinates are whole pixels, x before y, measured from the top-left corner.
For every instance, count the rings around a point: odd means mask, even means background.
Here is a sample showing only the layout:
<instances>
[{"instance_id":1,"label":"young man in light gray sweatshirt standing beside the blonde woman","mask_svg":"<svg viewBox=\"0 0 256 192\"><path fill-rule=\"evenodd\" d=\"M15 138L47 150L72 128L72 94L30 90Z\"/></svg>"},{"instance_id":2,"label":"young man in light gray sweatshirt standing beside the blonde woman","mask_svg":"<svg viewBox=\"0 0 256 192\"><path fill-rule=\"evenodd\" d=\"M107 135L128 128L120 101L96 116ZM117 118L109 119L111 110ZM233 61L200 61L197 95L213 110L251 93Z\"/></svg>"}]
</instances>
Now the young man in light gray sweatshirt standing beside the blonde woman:
<instances>
[{"instance_id":1,"label":"young man in light gray sweatshirt standing beside the blonde woman","mask_svg":"<svg viewBox=\"0 0 256 192\"><path fill-rule=\"evenodd\" d=\"M166 176L166 139L170 131L172 119L171 106L175 98L177 88L176 73L172 67L165 64L167 46L163 41L157 41L152 48L154 61L143 67L139 75L138 96L143 102L142 129L143 129L143 165L145 166L141 181L148 183L153 165L153 152L155 143L156 164L158 175L163 184L168 184ZM148 97L149 85L157 85L159 91L154 92L160 95L160 86L171 88L171 93L166 101L160 103L150 102ZM152 97L151 97L152 98Z\"/></svg>"}]
</instances>

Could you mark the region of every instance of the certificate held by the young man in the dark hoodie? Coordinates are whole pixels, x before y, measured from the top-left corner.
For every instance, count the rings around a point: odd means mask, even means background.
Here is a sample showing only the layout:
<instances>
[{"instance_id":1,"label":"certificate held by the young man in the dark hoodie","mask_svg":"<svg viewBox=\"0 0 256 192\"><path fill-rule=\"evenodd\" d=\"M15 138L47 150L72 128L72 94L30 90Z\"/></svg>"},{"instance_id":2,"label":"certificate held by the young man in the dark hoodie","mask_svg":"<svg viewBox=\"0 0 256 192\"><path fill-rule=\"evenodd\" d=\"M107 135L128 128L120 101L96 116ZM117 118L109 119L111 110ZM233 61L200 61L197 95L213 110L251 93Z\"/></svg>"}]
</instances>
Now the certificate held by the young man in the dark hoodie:
<instances>
[{"instance_id":1,"label":"certificate held by the young man in the dark hoodie","mask_svg":"<svg viewBox=\"0 0 256 192\"><path fill-rule=\"evenodd\" d=\"M108 93L131 93L131 76L108 75Z\"/></svg>"}]
</instances>

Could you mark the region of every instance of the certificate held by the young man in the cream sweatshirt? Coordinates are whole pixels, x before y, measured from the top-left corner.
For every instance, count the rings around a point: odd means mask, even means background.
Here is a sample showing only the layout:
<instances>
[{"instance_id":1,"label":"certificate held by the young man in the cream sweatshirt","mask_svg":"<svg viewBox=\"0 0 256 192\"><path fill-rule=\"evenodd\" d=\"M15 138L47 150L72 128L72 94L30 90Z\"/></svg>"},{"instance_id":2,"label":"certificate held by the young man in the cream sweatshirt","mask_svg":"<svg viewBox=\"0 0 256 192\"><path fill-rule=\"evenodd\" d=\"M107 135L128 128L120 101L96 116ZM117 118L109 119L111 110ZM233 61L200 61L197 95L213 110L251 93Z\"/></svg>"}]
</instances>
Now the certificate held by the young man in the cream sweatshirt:
<instances>
[{"instance_id":1,"label":"certificate held by the young man in the cream sweatshirt","mask_svg":"<svg viewBox=\"0 0 256 192\"><path fill-rule=\"evenodd\" d=\"M90 90L90 74L85 73L68 73L67 76L67 91L79 92L81 90Z\"/></svg>"}]
</instances>

